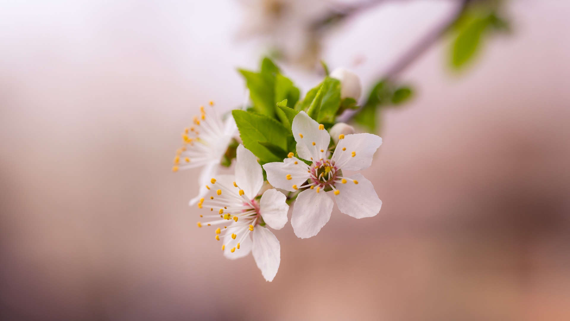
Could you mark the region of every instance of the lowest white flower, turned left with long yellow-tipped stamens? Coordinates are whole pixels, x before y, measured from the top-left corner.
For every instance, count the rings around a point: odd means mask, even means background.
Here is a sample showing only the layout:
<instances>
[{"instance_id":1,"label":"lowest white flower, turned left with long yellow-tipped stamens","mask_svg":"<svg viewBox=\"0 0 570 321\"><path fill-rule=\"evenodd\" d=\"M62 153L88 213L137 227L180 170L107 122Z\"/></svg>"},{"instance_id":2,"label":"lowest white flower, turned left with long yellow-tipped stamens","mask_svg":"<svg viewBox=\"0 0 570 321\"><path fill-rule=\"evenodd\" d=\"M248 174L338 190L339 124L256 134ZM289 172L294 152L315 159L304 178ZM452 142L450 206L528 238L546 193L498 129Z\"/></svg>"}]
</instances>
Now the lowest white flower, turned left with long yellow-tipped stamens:
<instances>
[{"instance_id":1,"label":"lowest white flower, turned left with long yellow-tipped stamens","mask_svg":"<svg viewBox=\"0 0 570 321\"><path fill-rule=\"evenodd\" d=\"M198 227L219 225L215 239L223 238L226 258L242 258L251 251L263 277L272 281L279 269L281 247L267 226L280 230L287 223L286 196L271 188L257 198L263 186L263 171L255 155L243 145L237 149L235 176L218 175L209 183L209 195L200 199L198 208L210 213L201 217L218 219L198 222Z\"/></svg>"}]
</instances>

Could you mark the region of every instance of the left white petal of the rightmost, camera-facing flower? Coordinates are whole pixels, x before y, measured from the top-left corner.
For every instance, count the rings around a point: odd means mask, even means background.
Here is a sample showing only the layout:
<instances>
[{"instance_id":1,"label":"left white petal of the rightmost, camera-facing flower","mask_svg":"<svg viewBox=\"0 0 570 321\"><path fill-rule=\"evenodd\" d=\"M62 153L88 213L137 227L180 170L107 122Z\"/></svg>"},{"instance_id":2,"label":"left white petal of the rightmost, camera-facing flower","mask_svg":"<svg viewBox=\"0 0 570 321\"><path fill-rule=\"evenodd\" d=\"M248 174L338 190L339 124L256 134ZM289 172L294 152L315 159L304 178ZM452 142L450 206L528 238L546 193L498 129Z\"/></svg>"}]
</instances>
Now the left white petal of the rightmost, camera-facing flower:
<instances>
[{"instance_id":1,"label":"left white petal of the rightmost, camera-facing flower","mask_svg":"<svg viewBox=\"0 0 570 321\"><path fill-rule=\"evenodd\" d=\"M267 173L267 181L272 186L291 192L295 191L293 185L299 187L311 177L307 172L309 170L307 164L296 157L286 158L283 162L264 164L263 169ZM287 175L291 175L291 179L287 179Z\"/></svg>"}]
</instances>

